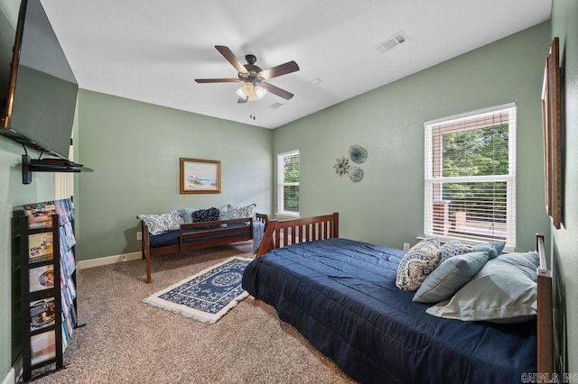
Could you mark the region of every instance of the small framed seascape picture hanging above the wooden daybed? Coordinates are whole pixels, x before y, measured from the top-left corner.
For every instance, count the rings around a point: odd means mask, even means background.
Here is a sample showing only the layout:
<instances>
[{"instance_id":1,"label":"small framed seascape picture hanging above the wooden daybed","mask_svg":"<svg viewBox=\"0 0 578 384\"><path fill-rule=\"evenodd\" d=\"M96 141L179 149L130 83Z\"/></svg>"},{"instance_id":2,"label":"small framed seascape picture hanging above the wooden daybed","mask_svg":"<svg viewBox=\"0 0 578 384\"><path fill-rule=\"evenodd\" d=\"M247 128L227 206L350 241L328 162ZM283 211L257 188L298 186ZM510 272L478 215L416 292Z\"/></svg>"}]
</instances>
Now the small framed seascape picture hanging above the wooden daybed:
<instances>
[{"instance_id":1,"label":"small framed seascape picture hanging above the wooden daybed","mask_svg":"<svg viewBox=\"0 0 578 384\"><path fill-rule=\"evenodd\" d=\"M220 161L181 158L181 194L220 193Z\"/></svg>"}]
</instances>

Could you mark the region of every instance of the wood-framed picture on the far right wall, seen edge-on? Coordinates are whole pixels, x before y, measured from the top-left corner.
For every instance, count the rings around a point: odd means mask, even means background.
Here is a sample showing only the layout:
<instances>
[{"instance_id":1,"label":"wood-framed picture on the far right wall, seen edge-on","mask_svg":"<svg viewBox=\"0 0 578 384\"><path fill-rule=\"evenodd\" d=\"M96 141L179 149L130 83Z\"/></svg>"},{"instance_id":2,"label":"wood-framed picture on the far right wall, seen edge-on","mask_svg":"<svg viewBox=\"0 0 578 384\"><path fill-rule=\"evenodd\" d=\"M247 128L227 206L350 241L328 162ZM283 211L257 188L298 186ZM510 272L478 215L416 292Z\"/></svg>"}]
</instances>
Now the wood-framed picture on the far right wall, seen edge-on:
<instances>
[{"instance_id":1,"label":"wood-framed picture on the far right wall, seen edge-on","mask_svg":"<svg viewBox=\"0 0 578 384\"><path fill-rule=\"evenodd\" d=\"M560 48L555 37L545 60L542 86L542 123L544 134L545 208L552 224L562 224L562 115Z\"/></svg>"}]
</instances>

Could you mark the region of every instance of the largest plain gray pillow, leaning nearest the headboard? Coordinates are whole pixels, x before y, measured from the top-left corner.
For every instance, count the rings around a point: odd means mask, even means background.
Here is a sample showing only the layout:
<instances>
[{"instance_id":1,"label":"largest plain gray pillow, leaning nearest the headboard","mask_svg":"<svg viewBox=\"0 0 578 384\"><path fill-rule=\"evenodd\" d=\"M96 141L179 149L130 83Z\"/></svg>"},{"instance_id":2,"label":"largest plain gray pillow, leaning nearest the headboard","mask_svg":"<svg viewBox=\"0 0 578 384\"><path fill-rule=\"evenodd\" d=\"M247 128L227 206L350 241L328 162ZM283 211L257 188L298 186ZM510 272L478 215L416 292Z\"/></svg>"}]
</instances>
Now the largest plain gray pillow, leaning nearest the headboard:
<instances>
[{"instance_id":1,"label":"largest plain gray pillow, leaning nearest the headboard","mask_svg":"<svg viewBox=\"0 0 578 384\"><path fill-rule=\"evenodd\" d=\"M452 299L425 312L463 321L526 322L536 316L537 266L534 251L501 255L488 261Z\"/></svg>"}]
</instances>

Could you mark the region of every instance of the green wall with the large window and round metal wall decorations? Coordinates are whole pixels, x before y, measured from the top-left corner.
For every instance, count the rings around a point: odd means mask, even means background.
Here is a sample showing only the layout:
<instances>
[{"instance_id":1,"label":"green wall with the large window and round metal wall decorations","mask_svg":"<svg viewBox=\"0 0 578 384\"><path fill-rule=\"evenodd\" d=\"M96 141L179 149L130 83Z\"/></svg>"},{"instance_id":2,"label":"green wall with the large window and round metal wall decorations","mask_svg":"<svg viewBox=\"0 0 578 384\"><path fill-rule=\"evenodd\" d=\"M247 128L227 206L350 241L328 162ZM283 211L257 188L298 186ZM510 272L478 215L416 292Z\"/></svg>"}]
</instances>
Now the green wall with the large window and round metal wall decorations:
<instances>
[{"instance_id":1,"label":"green wall with the large window and round metal wall decorations","mask_svg":"<svg viewBox=\"0 0 578 384\"><path fill-rule=\"evenodd\" d=\"M542 23L276 129L274 155L301 154L301 214L339 211L343 237L415 243L424 233L424 121L516 102L517 248L534 249L535 233L549 234L540 106L548 41ZM352 144L368 150L357 184L332 169Z\"/></svg>"}]
</instances>

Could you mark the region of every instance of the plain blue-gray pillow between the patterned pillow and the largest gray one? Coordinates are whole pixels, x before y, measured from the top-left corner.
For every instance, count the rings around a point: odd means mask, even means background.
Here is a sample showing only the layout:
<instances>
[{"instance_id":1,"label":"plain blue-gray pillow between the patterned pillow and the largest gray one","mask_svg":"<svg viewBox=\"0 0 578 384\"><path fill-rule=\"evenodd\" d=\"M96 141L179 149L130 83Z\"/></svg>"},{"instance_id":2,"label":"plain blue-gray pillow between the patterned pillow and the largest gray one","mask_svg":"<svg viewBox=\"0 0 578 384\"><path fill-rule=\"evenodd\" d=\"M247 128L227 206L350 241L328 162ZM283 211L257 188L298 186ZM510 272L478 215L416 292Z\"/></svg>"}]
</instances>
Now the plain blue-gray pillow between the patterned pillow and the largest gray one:
<instances>
[{"instance_id":1,"label":"plain blue-gray pillow between the patterned pillow and the largest gray one","mask_svg":"<svg viewBox=\"0 0 578 384\"><path fill-rule=\"evenodd\" d=\"M452 297L488 261L488 252L470 252L453 256L424 280L415 292L416 303L437 303Z\"/></svg>"}]
</instances>

